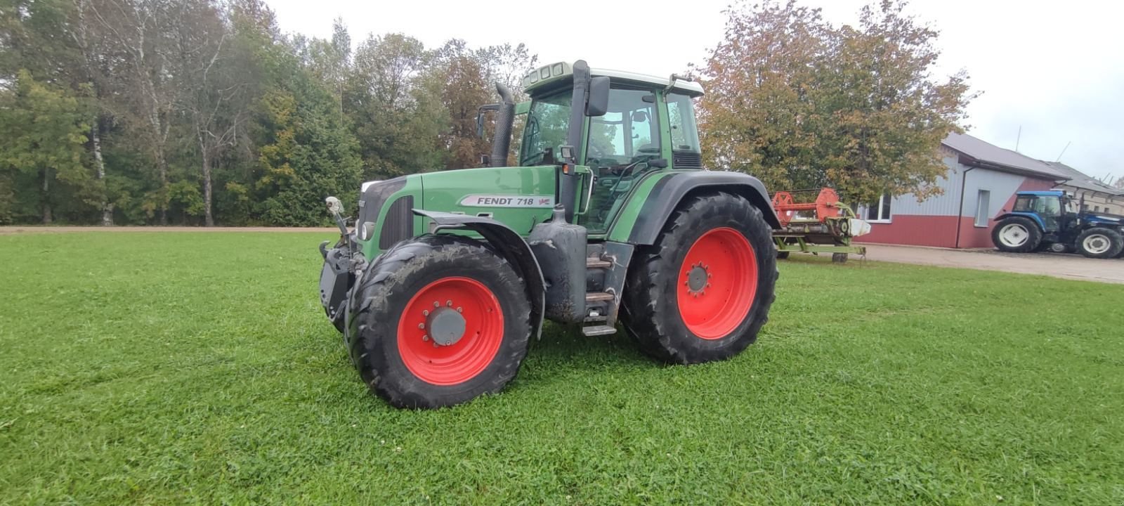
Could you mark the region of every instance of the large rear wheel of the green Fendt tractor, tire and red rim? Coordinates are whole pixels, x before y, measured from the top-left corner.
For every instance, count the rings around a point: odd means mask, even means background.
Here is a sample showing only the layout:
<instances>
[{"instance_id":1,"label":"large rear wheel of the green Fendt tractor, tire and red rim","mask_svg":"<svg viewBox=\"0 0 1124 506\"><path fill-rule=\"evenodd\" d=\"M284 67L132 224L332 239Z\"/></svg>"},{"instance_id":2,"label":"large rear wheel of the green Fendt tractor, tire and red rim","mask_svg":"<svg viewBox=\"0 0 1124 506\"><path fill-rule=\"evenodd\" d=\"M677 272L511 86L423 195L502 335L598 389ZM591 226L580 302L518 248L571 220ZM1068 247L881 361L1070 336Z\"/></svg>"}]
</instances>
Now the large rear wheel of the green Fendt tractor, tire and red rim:
<instances>
[{"instance_id":1,"label":"large rear wheel of the green Fendt tractor, tire and red rim","mask_svg":"<svg viewBox=\"0 0 1124 506\"><path fill-rule=\"evenodd\" d=\"M668 362L728 359L756 341L776 282L776 246L761 210L736 195L699 196L637 252L624 327Z\"/></svg>"}]
</instances>

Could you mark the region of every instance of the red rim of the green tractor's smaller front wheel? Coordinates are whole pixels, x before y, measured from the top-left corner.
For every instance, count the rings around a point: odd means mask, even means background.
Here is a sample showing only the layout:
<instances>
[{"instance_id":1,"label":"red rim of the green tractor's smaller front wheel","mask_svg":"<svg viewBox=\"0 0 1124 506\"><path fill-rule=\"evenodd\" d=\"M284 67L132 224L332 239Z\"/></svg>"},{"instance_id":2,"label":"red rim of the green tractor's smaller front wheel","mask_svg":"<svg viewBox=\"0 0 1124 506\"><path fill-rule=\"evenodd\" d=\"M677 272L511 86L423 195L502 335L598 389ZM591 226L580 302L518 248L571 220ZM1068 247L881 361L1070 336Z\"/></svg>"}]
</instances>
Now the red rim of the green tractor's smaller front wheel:
<instances>
[{"instance_id":1,"label":"red rim of the green tractor's smaller front wheel","mask_svg":"<svg viewBox=\"0 0 1124 506\"><path fill-rule=\"evenodd\" d=\"M438 315L463 318L464 332L459 340L441 344L430 335L439 331L441 324L434 319ZM442 278L426 284L410 298L398 320L402 363L433 385L459 385L475 378L496 358L502 341L499 300L483 283L469 278Z\"/></svg>"}]
</instances>

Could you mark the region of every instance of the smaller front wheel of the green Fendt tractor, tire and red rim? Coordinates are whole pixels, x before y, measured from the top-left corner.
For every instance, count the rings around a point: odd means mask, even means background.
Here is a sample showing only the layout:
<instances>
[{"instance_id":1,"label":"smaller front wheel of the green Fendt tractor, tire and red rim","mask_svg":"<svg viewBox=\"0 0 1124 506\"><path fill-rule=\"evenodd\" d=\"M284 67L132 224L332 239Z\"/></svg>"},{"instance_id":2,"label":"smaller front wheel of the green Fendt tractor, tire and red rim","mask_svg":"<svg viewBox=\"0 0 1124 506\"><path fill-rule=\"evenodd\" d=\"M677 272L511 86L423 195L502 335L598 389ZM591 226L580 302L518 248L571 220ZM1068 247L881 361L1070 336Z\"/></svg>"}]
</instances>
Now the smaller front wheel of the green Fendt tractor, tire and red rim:
<instances>
[{"instance_id":1,"label":"smaller front wheel of the green Fendt tractor, tire and red rim","mask_svg":"<svg viewBox=\"0 0 1124 506\"><path fill-rule=\"evenodd\" d=\"M357 293L352 362L393 406L437 408L498 392L527 354L525 283L477 241L398 243L364 272Z\"/></svg>"}]
</instances>

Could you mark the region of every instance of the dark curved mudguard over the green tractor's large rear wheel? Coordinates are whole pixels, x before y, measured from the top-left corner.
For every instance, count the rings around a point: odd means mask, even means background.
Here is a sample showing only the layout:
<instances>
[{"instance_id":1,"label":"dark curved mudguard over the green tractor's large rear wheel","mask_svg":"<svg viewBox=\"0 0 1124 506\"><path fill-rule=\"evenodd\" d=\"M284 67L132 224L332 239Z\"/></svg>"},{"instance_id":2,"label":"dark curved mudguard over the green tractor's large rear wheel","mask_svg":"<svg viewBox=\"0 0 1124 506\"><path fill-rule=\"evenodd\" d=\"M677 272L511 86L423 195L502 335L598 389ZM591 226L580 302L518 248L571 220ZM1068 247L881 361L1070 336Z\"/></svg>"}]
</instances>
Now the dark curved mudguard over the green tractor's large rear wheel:
<instances>
[{"instance_id":1,"label":"dark curved mudguard over the green tractor's large rear wheel","mask_svg":"<svg viewBox=\"0 0 1124 506\"><path fill-rule=\"evenodd\" d=\"M668 218L679 207L689 193L697 193L706 190L725 190L745 197L751 204L761 209L765 222L773 228L780 228L780 220L769 201L769 192L761 180L742 172L726 171L691 171L677 172L660 179L652 187L641 207L636 222L628 233L628 244L646 245L653 244L655 237L668 223ZM615 224L616 226L626 224ZM610 233L610 238L617 236L616 231Z\"/></svg>"}]
</instances>

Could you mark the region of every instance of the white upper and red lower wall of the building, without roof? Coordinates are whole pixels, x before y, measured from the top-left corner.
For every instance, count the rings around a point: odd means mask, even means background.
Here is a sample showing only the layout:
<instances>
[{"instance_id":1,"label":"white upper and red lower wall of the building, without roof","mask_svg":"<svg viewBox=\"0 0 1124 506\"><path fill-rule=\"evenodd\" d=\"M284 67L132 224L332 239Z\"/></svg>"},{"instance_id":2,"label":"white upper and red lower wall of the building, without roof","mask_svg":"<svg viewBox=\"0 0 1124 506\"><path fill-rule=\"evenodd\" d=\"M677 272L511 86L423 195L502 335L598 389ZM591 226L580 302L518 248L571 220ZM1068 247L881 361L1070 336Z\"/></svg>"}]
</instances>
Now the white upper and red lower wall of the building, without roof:
<instances>
[{"instance_id":1,"label":"white upper and red lower wall of the building, without roof","mask_svg":"<svg viewBox=\"0 0 1124 506\"><path fill-rule=\"evenodd\" d=\"M888 223L871 223L871 233L859 237L864 243L908 244L939 247L991 247L995 217L1009 210L1016 191L1048 190L1053 181L1026 178L988 169L968 168L957 154L942 146L945 178L937 181L942 193L921 202L907 193L890 205ZM963 199L961 199L963 186ZM987 226L976 225L979 191L989 191ZM959 240L958 240L959 233ZM959 246L958 246L959 244Z\"/></svg>"}]
</instances>

